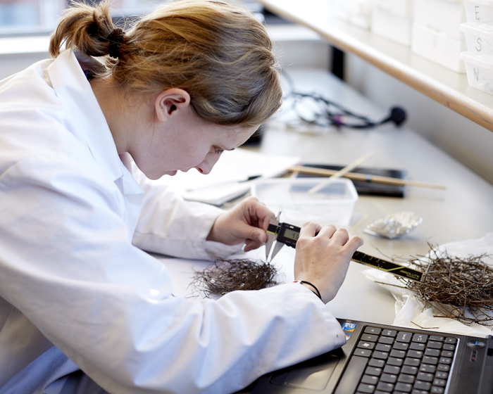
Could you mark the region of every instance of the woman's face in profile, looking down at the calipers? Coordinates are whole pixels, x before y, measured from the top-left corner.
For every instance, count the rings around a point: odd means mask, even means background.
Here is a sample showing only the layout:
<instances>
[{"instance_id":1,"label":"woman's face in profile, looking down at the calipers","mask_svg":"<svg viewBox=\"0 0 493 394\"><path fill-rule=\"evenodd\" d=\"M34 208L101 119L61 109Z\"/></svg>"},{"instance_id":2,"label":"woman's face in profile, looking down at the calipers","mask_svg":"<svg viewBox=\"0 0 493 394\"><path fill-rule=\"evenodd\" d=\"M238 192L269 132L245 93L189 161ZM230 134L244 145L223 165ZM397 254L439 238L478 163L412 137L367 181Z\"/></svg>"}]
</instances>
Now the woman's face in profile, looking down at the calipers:
<instances>
[{"instance_id":1,"label":"woman's face in profile, looking down at the calipers","mask_svg":"<svg viewBox=\"0 0 493 394\"><path fill-rule=\"evenodd\" d=\"M196 168L211 172L223 151L244 144L257 127L222 126L201 119L191 106L180 108L166 122L158 122L130 151L149 179Z\"/></svg>"}]
</instances>

